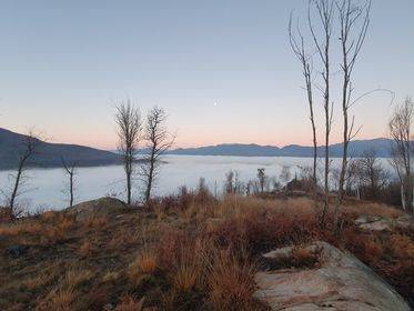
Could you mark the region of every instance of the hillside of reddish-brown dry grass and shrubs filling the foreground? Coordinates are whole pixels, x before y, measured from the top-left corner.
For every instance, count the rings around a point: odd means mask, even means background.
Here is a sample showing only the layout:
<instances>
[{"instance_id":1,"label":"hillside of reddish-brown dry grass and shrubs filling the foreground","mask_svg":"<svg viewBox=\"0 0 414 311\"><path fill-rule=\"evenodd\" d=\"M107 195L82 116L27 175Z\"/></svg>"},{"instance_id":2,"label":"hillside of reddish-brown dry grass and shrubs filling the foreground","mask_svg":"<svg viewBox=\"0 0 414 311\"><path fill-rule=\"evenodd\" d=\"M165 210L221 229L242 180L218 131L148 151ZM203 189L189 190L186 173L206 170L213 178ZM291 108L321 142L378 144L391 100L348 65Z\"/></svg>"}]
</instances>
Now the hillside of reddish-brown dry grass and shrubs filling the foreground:
<instances>
[{"instance_id":1,"label":"hillside of reddish-brown dry grass and shrubs filling the foreground","mask_svg":"<svg viewBox=\"0 0 414 311\"><path fill-rule=\"evenodd\" d=\"M349 202L340 240L320 229L307 198L216 200L204 191L83 221L47 212L3 222L0 309L267 310L252 298L259 255L311 240L350 250L414 303L414 231L362 231L354 223L362 213L401 212ZM24 248L13 254L13 245ZM296 254L289 267L312 262Z\"/></svg>"}]
</instances>

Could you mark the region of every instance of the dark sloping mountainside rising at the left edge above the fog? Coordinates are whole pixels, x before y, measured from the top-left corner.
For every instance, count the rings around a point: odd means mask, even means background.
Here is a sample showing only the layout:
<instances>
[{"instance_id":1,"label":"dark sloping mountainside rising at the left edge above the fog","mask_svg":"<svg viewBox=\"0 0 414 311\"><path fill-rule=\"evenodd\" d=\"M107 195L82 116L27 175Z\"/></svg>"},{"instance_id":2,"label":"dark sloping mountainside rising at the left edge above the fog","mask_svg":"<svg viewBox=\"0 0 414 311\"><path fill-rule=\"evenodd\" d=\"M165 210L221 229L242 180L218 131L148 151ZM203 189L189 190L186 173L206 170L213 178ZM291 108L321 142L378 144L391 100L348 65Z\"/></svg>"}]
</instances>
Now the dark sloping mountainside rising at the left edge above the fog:
<instances>
[{"instance_id":1,"label":"dark sloping mountainside rising at the left edge above the fog","mask_svg":"<svg viewBox=\"0 0 414 311\"><path fill-rule=\"evenodd\" d=\"M0 170L16 167L17 154L21 150L23 134L0 128ZM30 167L58 168L62 158L77 161L79 167L95 167L118 163L120 156L110 151L90 147L64 143L39 142L38 153L30 161Z\"/></svg>"}]
</instances>

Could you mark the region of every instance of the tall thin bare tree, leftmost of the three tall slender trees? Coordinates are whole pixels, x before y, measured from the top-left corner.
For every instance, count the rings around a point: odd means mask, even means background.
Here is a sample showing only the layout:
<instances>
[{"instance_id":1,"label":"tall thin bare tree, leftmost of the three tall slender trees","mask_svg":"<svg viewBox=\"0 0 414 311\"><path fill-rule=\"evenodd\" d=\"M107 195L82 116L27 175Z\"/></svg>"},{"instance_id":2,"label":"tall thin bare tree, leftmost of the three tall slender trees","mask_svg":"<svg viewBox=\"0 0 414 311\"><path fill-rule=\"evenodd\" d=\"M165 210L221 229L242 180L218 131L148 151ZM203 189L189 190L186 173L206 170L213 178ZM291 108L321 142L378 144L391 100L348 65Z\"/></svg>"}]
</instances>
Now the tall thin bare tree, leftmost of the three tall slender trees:
<instances>
[{"instance_id":1,"label":"tall thin bare tree, leftmost of the three tall slender trees","mask_svg":"<svg viewBox=\"0 0 414 311\"><path fill-rule=\"evenodd\" d=\"M305 90L307 96L307 104L310 111L310 120L312 127L312 141L313 141L313 183L316 188L316 160L317 160L317 139L316 139L316 126L313 111L313 71L312 71L312 53L306 50L305 40L297 24L296 31L292 28L292 14L289 22L289 39L291 48L299 62L302 66L302 74L305 80Z\"/></svg>"}]
</instances>

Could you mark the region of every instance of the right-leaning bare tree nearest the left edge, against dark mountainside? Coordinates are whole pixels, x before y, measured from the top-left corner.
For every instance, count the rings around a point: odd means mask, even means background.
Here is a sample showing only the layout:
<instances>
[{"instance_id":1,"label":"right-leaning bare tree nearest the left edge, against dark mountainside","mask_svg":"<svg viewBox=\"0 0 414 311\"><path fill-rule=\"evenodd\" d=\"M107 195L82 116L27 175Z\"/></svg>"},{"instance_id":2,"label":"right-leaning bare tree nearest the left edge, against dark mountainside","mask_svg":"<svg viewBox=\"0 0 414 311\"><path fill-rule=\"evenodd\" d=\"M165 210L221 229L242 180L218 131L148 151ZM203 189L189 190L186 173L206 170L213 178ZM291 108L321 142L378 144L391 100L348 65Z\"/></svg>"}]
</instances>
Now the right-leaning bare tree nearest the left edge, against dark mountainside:
<instances>
[{"instance_id":1,"label":"right-leaning bare tree nearest the left edge, against dark mountainside","mask_svg":"<svg viewBox=\"0 0 414 311\"><path fill-rule=\"evenodd\" d=\"M30 165L30 161L37 154L40 146L41 140L39 139L39 136L34 133L33 130L29 130L28 134L22 137L21 141L19 142L17 151L16 173L12 175L13 185L10 198L8 200L12 217L18 217L19 214L19 212L16 210L16 200L19 195L20 187L22 185L24 180L24 171L27 167Z\"/></svg>"}]
</instances>

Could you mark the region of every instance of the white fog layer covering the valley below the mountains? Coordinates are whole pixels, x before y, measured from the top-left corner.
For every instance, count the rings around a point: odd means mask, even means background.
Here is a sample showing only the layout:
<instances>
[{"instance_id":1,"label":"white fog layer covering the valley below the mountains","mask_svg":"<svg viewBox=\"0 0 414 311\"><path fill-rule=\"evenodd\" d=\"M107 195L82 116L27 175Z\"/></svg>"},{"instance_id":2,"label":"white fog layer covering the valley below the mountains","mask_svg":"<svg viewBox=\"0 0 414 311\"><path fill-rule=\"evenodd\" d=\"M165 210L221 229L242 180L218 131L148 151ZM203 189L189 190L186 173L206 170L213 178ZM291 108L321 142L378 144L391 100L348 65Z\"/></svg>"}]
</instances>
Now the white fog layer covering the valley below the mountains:
<instances>
[{"instance_id":1,"label":"white fog layer covering the valley below the mountains","mask_svg":"<svg viewBox=\"0 0 414 311\"><path fill-rule=\"evenodd\" d=\"M203 177L210 190L222 192L225 173L230 170L239 173L242 182L255 179L258 169L265 168L266 175L279 179L283 165L291 168L292 177L300 173L300 167L311 167L312 158L270 158L270 157L220 157L220 156L165 156L158 177L155 195L175 193L178 187L196 188ZM319 159L322 163L322 159ZM341 159L332 159L332 165L339 167ZM387 167L386 160L383 160ZM0 189L8 191L12 181L11 171L0 172ZM26 171L26 183L18 202L31 211L38 209L65 208L64 194L67 175L62 169L30 169ZM134 199L140 198L140 181L134 181ZM79 168L75 180L75 203L104 195L125 197L124 172L121 165Z\"/></svg>"}]
</instances>

